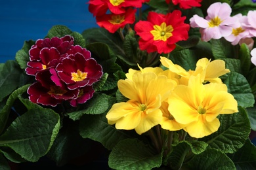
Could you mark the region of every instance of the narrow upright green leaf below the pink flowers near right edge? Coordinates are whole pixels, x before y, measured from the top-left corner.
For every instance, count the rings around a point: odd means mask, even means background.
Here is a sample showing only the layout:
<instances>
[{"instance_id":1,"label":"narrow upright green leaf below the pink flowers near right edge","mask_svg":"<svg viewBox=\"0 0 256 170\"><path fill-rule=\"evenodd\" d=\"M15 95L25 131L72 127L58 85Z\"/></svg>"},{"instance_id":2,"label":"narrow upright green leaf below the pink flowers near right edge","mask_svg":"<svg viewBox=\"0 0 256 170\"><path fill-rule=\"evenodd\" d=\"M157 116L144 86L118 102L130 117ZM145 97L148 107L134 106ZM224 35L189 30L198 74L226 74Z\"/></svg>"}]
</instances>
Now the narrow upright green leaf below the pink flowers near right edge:
<instances>
[{"instance_id":1,"label":"narrow upright green leaf below the pink flowers near right edge","mask_svg":"<svg viewBox=\"0 0 256 170\"><path fill-rule=\"evenodd\" d=\"M239 58L241 61L242 73L246 76L249 73L249 69L251 67L251 54L248 46L245 43L241 44L240 46Z\"/></svg>"}]
</instances>

